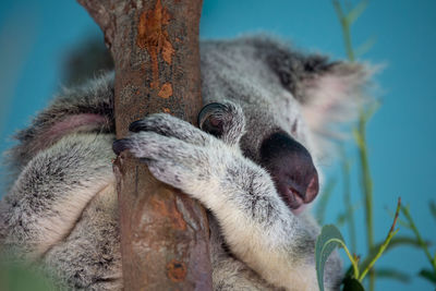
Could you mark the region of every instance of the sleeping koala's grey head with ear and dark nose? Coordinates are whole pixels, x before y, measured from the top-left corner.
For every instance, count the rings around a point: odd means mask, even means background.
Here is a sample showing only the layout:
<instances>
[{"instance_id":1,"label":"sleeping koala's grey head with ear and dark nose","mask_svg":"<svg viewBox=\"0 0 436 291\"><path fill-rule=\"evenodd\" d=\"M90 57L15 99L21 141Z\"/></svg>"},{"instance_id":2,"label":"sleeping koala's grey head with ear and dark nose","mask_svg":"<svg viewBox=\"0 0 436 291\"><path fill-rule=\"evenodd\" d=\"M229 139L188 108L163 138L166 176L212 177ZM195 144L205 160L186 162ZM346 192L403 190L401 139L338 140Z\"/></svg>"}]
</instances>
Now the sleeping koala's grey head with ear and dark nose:
<instances>
[{"instance_id":1,"label":"sleeping koala's grey head with ear and dark nose","mask_svg":"<svg viewBox=\"0 0 436 291\"><path fill-rule=\"evenodd\" d=\"M317 168L331 151L335 125L359 111L370 70L265 38L205 43L201 49L203 99L210 104L201 112L201 128L220 136L222 116L239 112L220 105L240 107L244 119L233 118L232 126L245 123L238 138L243 154L270 173L282 199L301 213L318 194ZM220 117L205 118L210 112Z\"/></svg>"}]
</instances>

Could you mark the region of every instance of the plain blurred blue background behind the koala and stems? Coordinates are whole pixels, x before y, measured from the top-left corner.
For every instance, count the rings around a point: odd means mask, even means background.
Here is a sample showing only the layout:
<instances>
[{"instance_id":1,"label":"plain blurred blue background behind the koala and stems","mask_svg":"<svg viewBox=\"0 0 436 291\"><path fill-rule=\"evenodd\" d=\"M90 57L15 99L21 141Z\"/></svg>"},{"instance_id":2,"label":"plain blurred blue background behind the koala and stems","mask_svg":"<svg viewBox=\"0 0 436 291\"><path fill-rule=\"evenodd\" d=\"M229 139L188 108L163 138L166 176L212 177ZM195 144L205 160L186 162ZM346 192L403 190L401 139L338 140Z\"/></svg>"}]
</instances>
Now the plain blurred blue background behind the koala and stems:
<instances>
[{"instance_id":1,"label":"plain blurred blue background behind the koala and stems","mask_svg":"<svg viewBox=\"0 0 436 291\"><path fill-rule=\"evenodd\" d=\"M391 223L386 208L392 210L398 196L410 205L422 234L436 241L436 223L427 205L431 198L436 199L435 13L434 0L377 0L370 2L352 27L355 46L376 39L361 59L387 64L375 77L382 87L383 105L368 125L378 241ZM334 58L346 56L341 29L328 0L204 0L203 38L255 32L270 32L290 39L298 48ZM99 35L99 29L73 0L0 2L0 150L12 144L8 136L47 105L61 85L68 51L89 35ZM352 146L349 149L355 169L355 150ZM335 165L326 168L330 175L339 177ZM353 171L354 202L361 197L356 174ZM341 209L338 189L328 204L327 220L334 222ZM362 205L356 215L361 240L358 246L364 253ZM399 233L410 234L402 227ZM393 250L377 265L395 266L411 275L429 267L421 251L408 247ZM409 284L379 280L377 290L386 289L433 290L416 276Z\"/></svg>"}]
</instances>

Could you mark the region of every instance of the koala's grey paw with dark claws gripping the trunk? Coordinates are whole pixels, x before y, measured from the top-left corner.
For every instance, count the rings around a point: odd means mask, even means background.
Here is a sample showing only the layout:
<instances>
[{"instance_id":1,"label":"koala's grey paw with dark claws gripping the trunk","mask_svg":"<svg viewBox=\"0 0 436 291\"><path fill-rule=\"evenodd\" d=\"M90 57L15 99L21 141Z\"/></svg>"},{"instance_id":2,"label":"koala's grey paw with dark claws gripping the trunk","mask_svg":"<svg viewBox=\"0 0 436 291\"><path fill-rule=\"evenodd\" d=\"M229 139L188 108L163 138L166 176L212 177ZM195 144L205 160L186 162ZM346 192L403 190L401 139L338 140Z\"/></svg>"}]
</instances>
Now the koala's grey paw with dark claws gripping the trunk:
<instances>
[{"instance_id":1,"label":"koala's grey paw with dark claws gripping the trunk","mask_svg":"<svg viewBox=\"0 0 436 291\"><path fill-rule=\"evenodd\" d=\"M202 112L201 125L209 122L207 130L220 130L219 136L228 136L229 143L178 118L157 113L133 122L129 126L132 134L116 141L113 151L118 155L130 150L148 165L156 179L194 194L194 185L209 183L219 174L219 165L233 159L234 150L229 150L229 146L238 143L244 125L242 110L232 104L213 104ZM234 122L241 124L232 126Z\"/></svg>"}]
</instances>

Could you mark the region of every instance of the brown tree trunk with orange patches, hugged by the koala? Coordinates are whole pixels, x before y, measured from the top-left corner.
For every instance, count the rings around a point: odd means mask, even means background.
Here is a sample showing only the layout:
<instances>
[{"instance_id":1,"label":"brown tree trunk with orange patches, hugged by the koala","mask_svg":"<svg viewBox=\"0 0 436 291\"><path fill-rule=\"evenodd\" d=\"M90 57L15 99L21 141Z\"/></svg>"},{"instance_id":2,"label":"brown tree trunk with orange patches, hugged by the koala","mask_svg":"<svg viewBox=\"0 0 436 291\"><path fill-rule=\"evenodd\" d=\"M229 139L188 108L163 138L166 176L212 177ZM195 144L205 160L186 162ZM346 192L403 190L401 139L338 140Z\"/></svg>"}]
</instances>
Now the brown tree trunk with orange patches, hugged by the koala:
<instances>
[{"instance_id":1,"label":"brown tree trunk with orange patches, hugged by the koala","mask_svg":"<svg viewBox=\"0 0 436 291\"><path fill-rule=\"evenodd\" d=\"M117 136L147 113L194 122L201 109L202 0L78 0L116 66ZM211 290L204 208L122 153L118 179L124 290Z\"/></svg>"}]
</instances>

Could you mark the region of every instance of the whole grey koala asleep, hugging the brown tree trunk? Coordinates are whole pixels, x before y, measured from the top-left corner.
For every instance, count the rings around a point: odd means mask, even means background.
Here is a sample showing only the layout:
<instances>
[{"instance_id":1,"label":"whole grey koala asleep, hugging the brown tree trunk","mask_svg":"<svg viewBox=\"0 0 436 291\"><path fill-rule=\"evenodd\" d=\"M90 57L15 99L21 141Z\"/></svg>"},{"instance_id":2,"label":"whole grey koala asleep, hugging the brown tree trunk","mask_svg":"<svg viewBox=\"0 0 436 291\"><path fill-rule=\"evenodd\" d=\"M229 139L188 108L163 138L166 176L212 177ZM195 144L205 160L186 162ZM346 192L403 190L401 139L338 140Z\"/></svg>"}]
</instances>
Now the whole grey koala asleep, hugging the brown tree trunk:
<instances>
[{"instance_id":1,"label":"whole grey koala asleep, hugging the brown tree trunk","mask_svg":"<svg viewBox=\"0 0 436 291\"><path fill-rule=\"evenodd\" d=\"M203 41L201 71L199 129L157 113L116 141L113 73L57 97L8 154L3 251L50 270L59 288L121 290L111 160L129 150L208 209L214 290L318 290L308 208L335 124L358 112L370 69L253 36ZM334 253L326 289L340 280Z\"/></svg>"}]
</instances>

